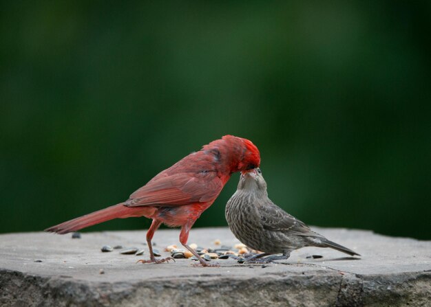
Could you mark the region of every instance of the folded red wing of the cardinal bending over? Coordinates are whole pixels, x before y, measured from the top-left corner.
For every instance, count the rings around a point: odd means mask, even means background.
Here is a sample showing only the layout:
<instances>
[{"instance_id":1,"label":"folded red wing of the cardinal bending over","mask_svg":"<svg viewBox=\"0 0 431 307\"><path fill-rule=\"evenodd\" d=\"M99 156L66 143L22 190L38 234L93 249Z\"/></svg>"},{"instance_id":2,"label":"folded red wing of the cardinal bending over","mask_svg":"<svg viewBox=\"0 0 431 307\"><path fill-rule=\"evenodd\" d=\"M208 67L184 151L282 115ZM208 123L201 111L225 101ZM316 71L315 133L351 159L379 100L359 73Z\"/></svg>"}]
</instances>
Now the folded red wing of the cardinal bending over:
<instances>
[{"instance_id":1,"label":"folded red wing of the cardinal bending over","mask_svg":"<svg viewBox=\"0 0 431 307\"><path fill-rule=\"evenodd\" d=\"M216 172L183 172L158 176L136 190L125 205L188 205L215 199L223 183Z\"/></svg>"}]
</instances>

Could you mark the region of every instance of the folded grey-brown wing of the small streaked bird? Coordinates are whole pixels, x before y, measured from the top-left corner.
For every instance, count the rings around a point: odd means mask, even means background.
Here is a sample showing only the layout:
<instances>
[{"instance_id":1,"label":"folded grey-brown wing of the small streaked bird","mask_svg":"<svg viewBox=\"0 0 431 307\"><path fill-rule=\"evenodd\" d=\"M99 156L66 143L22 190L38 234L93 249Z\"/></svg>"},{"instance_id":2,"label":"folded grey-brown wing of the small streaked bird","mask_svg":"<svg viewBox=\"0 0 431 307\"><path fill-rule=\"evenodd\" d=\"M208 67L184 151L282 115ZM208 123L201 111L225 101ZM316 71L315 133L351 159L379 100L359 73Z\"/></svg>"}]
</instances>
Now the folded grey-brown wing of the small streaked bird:
<instances>
[{"instance_id":1,"label":"folded grey-brown wing of the small streaked bird","mask_svg":"<svg viewBox=\"0 0 431 307\"><path fill-rule=\"evenodd\" d=\"M259 206L260 221L264 229L271 231L288 231L291 234L298 236L317 236L307 225L302 221L297 220L285 212L282 208L275 205L270 199L264 201L264 205Z\"/></svg>"}]
</instances>

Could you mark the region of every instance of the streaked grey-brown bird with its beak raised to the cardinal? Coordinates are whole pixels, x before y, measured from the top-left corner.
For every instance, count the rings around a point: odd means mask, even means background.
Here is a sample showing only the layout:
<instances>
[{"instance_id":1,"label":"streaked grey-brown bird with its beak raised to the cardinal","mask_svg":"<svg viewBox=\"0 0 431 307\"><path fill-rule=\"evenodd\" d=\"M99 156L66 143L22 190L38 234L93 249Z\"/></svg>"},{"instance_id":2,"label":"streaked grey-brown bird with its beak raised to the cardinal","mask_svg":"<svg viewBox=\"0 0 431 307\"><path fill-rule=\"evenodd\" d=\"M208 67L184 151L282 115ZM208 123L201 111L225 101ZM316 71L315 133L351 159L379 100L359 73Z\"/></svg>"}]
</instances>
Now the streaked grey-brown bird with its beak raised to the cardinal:
<instances>
[{"instance_id":1,"label":"streaked grey-brown bird with its beak raised to the cardinal","mask_svg":"<svg viewBox=\"0 0 431 307\"><path fill-rule=\"evenodd\" d=\"M301 247L330 247L359 255L315 233L268 198L266 182L259 168L241 174L238 190L226 205L226 220L238 240L257 251L263 251L248 262L272 262L285 260L294 249ZM272 255L282 253L282 255ZM257 260L266 255L266 258Z\"/></svg>"}]
</instances>

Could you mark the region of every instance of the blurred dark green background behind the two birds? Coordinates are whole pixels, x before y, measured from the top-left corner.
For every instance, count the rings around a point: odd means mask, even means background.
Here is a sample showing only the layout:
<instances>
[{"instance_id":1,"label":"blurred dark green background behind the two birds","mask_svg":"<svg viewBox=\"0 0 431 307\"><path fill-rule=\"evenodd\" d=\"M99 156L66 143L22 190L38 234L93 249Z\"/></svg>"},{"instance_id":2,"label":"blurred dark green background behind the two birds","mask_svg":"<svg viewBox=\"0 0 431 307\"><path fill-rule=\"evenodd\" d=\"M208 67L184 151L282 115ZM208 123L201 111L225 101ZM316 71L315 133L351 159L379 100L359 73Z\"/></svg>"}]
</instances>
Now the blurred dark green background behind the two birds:
<instances>
[{"instance_id":1,"label":"blurred dark green background behind the two birds","mask_svg":"<svg viewBox=\"0 0 431 307\"><path fill-rule=\"evenodd\" d=\"M431 239L430 3L1 1L0 232L124 201L232 134L306 223ZM196 227L227 225L237 183Z\"/></svg>"}]
</instances>

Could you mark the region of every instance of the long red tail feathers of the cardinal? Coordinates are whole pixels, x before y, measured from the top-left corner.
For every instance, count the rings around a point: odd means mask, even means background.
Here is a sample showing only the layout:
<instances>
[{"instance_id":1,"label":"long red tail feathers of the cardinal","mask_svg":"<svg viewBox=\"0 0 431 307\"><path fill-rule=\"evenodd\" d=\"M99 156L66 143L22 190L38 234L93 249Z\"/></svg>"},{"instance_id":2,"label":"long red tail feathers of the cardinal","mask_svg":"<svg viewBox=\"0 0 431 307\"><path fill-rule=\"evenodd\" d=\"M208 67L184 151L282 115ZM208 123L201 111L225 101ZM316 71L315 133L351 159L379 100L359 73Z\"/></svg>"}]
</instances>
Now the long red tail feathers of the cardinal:
<instances>
[{"instance_id":1,"label":"long red tail feathers of the cardinal","mask_svg":"<svg viewBox=\"0 0 431 307\"><path fill-rule=\"evenodd\" d=\"M123 203L113 205L105 209L86 214L68 220L67 222L61 223L56 226L45 229L45 231L56 232L57 234L67 234L68 232L77 231L85 227L90 227L99 223L106 222L107 220L113 220L114 218L130 218L133 216L145 216L151 211L151 207L126 207Z\"/></svg>"}]
</instances>

